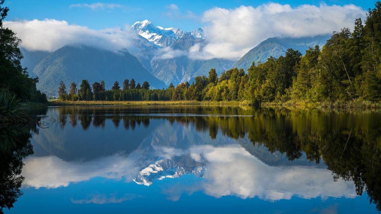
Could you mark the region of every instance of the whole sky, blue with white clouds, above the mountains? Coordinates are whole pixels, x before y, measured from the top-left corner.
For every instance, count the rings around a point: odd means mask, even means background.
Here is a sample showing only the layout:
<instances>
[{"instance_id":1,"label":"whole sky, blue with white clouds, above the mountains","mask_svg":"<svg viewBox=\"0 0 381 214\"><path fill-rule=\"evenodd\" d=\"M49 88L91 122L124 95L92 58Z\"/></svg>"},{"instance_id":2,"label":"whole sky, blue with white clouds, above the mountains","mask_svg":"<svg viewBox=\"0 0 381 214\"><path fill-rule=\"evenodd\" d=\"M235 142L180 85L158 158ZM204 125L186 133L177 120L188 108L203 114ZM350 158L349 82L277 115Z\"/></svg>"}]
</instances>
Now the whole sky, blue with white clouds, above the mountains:
<instances>
[{"instance_id":1,"label":"whole sky, blue with white clouds, above the mountains","mask_svg":"<svg viewBox=\"0 0 381 214\"><path fill-rule=\"evenodd\" d=\"M83 44L110 51L133 50L128 29L148 19L155 26L191 31L204 27L207 45L195 44L189 53L170 48L166 57L187 55L194 59L239 59L270 37L312 37L350 29L357 18L366 19L374 0L326 2L270 1L122 1L122 0L6 0L10 13L4 22L21 38L27 50L55 51L65 45ZM112 32L112 35L105 32ZM160 55L160 56L162 56Z\"/></svg>"}]
</instances>

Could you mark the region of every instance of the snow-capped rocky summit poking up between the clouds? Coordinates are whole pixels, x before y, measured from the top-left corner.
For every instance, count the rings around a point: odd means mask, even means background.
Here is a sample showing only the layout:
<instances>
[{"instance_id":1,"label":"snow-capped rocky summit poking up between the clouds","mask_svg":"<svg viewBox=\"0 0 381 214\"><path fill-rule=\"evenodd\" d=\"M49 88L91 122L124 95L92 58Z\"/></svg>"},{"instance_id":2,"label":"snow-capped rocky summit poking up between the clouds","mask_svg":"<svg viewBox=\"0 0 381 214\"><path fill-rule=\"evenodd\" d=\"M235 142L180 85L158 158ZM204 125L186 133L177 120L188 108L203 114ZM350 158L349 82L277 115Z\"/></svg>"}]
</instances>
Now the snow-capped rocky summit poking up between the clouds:
<instances>
[{"instance_id":1,"label":"snow-capped rocky summit poking up between the clouds","mask_svg":"<svg viewBox=\"0 0 381 214\"><path fill-rule=\"evenodd\" d=\"M203 38L202 27L195 29L192 32L186 32L174 27L164 28L161 26L154 26L154 24L147 19L141 22L135 22L130 27L129 31L136 32L148 41L163 48L173 45L176 40L185 35L191 35L192 38L195 39Z\"/></svg>"}]
</instances>

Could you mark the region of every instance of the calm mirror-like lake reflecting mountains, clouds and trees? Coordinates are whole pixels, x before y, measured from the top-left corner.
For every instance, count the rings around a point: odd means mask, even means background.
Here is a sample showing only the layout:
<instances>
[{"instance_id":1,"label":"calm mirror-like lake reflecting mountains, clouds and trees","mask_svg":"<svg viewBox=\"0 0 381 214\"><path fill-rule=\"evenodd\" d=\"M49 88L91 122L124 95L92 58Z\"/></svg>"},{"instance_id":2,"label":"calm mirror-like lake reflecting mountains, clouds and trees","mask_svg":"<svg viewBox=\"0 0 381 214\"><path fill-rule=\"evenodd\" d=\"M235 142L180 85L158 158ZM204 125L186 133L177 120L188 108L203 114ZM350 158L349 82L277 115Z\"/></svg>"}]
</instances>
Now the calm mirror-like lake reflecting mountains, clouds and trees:
<instances>
[{"instance_id":1,"label":"calm mirror-like lake reflecting mountains, clouds and trees","mask_svg":"<svg viewBox=\"0 0 381 214\"><path fill-rule=\"evenodd\" d=\"M1 204L14 206L5 213L381 209L379 112L200 105L28 112L46 117L0 135Z\"/></svg>"}]
</instances>

